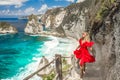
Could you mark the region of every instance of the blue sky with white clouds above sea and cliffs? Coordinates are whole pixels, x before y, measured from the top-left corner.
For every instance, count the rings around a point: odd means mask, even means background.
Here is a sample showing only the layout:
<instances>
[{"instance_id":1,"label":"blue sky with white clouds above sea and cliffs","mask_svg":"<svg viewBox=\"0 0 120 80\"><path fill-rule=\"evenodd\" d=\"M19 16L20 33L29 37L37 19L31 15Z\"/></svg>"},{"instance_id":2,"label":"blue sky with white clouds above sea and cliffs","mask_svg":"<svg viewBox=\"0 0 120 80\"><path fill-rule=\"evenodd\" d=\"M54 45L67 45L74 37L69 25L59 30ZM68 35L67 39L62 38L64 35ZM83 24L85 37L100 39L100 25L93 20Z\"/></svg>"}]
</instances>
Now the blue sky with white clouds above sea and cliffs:
<instances>
[{"instance_id":1,"label":"blue sky with white clouds above sea and cliffs","mask_svg":"<svg viewBox=\"0 0 120 80\"><path fill-rule=\"evenodd\" d=\"M0 17L43 14L48 9L81 1L84 0L0 0Z\"/></svg>"}]
</instances>

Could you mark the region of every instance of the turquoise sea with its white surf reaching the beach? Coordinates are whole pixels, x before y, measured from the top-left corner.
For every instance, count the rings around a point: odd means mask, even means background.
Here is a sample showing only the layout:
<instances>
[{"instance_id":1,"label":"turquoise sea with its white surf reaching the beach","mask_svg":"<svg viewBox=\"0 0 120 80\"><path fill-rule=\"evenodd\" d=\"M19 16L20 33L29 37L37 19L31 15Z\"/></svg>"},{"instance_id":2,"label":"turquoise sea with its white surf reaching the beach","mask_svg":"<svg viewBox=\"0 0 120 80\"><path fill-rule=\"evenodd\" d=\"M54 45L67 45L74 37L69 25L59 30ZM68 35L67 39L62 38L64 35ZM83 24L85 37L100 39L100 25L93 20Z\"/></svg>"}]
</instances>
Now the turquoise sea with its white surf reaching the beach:
<instances>
[{"instance_id":1,"label":"turquoise sea with its white surf reaching the beach","mask_svg":"<svg viewBox=\"0 0 120 80\"><path fill-rule=\"evenodd\" d=\"M6 20L5 20L6 21ZM0 35L0 79L22 80L36 71L42 56L48 59L59 54L71 54L75 42L68 38L53 36L27 35L24 27L26 21L8 20L17 26L17 34ZM34 76L31 80L41 80Z\"/></svg>"}]
</instances>

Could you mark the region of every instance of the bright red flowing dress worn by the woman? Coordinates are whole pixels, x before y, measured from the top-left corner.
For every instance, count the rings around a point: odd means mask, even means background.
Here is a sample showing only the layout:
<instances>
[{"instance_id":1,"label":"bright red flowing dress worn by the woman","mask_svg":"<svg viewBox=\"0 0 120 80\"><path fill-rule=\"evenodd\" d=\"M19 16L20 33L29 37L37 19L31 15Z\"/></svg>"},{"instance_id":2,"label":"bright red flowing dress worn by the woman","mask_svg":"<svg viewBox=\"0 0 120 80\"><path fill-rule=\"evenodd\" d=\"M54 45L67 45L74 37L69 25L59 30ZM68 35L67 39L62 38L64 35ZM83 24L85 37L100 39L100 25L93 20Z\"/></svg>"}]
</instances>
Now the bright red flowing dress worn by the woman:
<instances>
[{"instance_id":1,"label":"bright red flowing dress worn by the woman","mask_svg":"<svg viewBox=\"0 0 120 80\"><path fill-rule=\"evenodd\" d=\"M80 59L80 65L84 65L85 63L95 62L95 58L89 53L88 47L92 47L94 42L84 42L82 43L82 39L79 40L80 48L79 50L74 51L74 55L76 58Z\"/></svg>"}]
</instances>

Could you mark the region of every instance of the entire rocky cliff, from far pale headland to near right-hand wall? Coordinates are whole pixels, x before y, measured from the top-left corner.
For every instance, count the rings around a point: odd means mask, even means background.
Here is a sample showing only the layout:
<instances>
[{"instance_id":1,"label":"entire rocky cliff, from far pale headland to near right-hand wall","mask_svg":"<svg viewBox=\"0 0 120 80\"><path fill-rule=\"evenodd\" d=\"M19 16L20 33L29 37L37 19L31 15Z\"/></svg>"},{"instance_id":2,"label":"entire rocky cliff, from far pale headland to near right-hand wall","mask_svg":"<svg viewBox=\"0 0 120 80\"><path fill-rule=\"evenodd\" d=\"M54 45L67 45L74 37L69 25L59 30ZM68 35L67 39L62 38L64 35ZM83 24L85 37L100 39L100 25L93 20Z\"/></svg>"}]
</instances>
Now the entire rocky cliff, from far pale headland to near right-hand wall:
<instances>
[{"instance_id":1,"label":"entire rocky cliff, from far pale headland to near right-hand wall","mask_svg":"<svg viewBox=\"0 0 120 80\"><path fill-rule=\"evenodd\" d=\"M119 0L85 0L48 10L41 20L47 28L76 39L88 31L95 42L101 80L120 80Z\"/></svg>"}]
</instances>

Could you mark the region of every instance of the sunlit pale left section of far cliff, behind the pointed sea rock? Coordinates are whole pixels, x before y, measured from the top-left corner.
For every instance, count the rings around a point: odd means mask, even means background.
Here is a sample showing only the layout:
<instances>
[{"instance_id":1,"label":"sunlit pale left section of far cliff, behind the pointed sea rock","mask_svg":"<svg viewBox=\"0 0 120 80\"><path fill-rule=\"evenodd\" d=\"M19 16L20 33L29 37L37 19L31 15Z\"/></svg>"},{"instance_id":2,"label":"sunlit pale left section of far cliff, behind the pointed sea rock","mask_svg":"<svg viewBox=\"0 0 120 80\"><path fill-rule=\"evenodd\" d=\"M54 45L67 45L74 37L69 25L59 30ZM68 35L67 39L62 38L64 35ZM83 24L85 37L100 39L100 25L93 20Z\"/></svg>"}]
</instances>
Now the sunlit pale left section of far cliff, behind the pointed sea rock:
<instances>
[{"instance_id":1,"label":"sunlit pale left section of far cliff, behind the pointed sea rock","mask_svg":"<svg viewBox=\"0 0 120 80\"><path fill-rule=\"evenodd\" d=\"M54 8L48 10L41 18L41 21L49 31L65 36L62 27L59 27L63 21L66 11L64 8ZM57 28L59 31L57 31Z\"/></svg>"}]
</instances>

